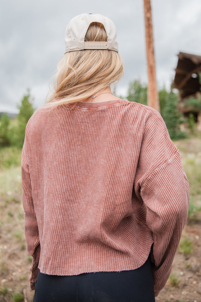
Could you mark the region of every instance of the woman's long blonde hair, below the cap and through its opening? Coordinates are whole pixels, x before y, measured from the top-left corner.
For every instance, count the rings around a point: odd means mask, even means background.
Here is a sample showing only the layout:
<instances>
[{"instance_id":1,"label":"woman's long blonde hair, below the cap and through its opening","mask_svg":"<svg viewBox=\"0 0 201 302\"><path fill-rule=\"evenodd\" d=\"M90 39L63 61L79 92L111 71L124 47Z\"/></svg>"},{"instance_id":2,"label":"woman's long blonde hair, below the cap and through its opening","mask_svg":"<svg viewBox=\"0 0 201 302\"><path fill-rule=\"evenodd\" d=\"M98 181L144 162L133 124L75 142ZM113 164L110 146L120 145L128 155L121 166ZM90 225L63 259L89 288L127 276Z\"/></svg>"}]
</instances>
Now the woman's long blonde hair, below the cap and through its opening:
<instances>
[{"instance_id":1,"label":"woman's long blonde hair, below the cap and through its opening","mask_svg":"<svg viewBox=\"0 0 201 302\"><path fill-rule=\"evenodd\" d=\"M92 22L85 41L106 42L104 26ZM81 101L120 80L122 76L122 58L116 51L90 49L67 52L58 63L55 84L50 90L52 95L47 103L62 105Z\"/></svg>"}]
</instances>

